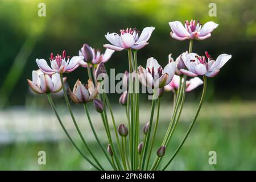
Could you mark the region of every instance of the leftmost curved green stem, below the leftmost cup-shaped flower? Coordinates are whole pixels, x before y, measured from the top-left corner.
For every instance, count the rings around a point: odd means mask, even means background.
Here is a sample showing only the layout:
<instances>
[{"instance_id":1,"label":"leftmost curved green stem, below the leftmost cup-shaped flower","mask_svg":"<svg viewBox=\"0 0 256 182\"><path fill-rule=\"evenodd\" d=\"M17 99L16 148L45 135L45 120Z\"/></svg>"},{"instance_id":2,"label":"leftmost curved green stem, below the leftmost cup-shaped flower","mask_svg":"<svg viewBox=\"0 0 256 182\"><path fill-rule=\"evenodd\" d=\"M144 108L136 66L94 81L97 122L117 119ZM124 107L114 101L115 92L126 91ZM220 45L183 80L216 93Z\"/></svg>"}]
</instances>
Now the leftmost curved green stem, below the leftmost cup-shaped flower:
<instances>
[{"instance_id":1,"label":"leftmost curved green stem, below the leftmost cup-shaped flower","mask_svg":"<svg viewBox=\"0 0 256 182\"><path fill-rule=\"evenodd\" d=\"M47 98L48 98L48 101L49 101L49 104L51 105L52 107L52 110L54 111L59 123L60 123L60 126L62 127L62 129L64 130L65 134L67 135L68 139L71 141L71 143L73 144L73 146L76 148L77 151L79 151L79 153L82 155L82 157L87 160L90 164L92 164L93 167L95 167L97 170L101 170L100 168L98 168L96 166L96 164L94 164L90 159L88 159L83 153L82 151L79 149L79 147L77 147L76 143L73 141L73 139L71 138L71 136L68 134L68 131L65 129L65 126L63 125L63 123L61 122L61 119L59 117L59 114L57 113L57 110L55 109L55 105L52 101L52 97L51 97L51 94L50 93L47 93Z\"/></svg>"}]
</instances>

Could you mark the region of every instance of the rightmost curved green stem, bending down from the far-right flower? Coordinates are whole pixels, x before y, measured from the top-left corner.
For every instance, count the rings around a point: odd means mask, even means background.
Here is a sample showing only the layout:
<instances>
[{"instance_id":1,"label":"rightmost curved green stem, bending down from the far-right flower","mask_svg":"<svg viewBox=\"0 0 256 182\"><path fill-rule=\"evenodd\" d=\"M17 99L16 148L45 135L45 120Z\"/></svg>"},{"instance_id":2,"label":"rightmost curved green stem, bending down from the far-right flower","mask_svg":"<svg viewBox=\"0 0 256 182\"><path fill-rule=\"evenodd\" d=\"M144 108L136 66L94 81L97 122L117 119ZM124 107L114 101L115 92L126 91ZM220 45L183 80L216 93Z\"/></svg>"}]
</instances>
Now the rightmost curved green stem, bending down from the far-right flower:
<instances>
[{"instance_id":1,"label":"rightmost curved green stem, bending down from the far-right flower","mask_svg":"<svg viewBox=\"0 0 256 182\"><path fill-rule=\"evenodd\" d=\"M200 109L201 109L201 106L204 102L204 97L205 97L205 93L206 93L206 90L207 90L207 77L204 75L204 88L203 88L203 93L202 93L202 96L201 96L201 100L200 100L200 103L199 103L199 106L197 107L197 111L196 111L196 115L195 117L193 118L193 121L191 123L191 125L189 126L189 129L185 135L185 137L183 138L182 142L180 143L179 147L177 148L177 150L175 151L174 155L172 155L171 159L169 160L169 162L166 164L166 166L164 166L163 168L163 171L169 166L169 164L172 162L172 160L174 160L175 156L177 155L177 153L180 151L180 148L183 146L185 140L187 139L189 133L191 132L192 130L192 127L194 126L195 122L196 122L196 119L199 115L199 112L200 112Z\"/></svg>"}]
</instances>

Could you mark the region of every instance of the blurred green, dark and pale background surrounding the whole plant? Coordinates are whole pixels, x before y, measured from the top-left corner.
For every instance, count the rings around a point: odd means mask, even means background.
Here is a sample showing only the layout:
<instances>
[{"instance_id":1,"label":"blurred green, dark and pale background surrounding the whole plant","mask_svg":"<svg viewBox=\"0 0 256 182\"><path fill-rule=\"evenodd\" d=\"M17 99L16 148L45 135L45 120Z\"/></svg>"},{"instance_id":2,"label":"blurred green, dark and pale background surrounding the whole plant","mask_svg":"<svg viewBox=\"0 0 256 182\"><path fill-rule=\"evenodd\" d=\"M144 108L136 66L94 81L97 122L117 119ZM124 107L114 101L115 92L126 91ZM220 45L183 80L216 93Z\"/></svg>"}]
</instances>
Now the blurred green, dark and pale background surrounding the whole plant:
<instances>
[{"instance_id":1,"label":"blurred green, dark and pale background surrounding the whole plant","mask_svg":"<svg viewBox=\"0 0 256 182\"><path fill-rule=\"evenodd\" d=\"M46 3L46 17L38 16L38 4ZM216 3L217 16L210 17L209 3ZM48 59L49 54L78 54L84 43L104 50L107 32L137 27L142 30L154 26L148 46L138 52L138 64L145 65L154 56L160 64L168 61L168 54L177 57L188 49L188 41L171 39L168 22L196 19L205 23L213 20L219 26L212 37L195 41L193 51L212 57L221 53L232 55L218 76L208 79L207 98L192 133L168 169L225 170L256 169L256 23L254 0L196 1L196 0L1 0L0 1L0 169L93 169L71 146L53 115L45 96L31 94L27 78L38 69L35 59ZM127 69L127 52L115 52L106 63L115 72ZM79 68L67 75L68 84L77 78L88 79L86 70ZM171 156L183 138L202 88L188 94L175 137L167 152ZM123 121L123 108L118 106L117 94L110 94L117 122ZM157 139L163 138L172 110L172 93L164 96L160 111ZM56 97L58 110L73 137L79 138L67 115L61 97ZM90 146L98 150L88 121L80 106L74 106L77 120ZM149 119L150 101L141 98L141 123ZM105 133L100 118L92 111L94 123L102 142ZM142 126L141 126L142 127ZM82 147L82 144L81 144ZM38 164L38 151L46 151L47 164ZM208 152L217 152L217 165L209 165ZM105 163L105 159L101 159ZM108 164L104 164L108 168Z\"/></svg>"}]
</instances>

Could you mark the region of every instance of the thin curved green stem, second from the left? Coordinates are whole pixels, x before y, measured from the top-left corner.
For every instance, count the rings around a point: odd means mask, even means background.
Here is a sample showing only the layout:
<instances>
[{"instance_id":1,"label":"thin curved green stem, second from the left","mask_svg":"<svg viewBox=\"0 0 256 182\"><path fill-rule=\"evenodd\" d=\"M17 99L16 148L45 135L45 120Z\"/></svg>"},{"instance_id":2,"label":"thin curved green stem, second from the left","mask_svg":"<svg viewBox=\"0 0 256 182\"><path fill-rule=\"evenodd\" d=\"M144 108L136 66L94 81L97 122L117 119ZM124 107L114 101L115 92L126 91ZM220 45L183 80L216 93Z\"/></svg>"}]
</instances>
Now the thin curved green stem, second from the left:
<instances>
[{"instance_id":1,"label":"thin curved green stem, second from the left","mask_svg":"<svg viewBox=\"0 0 256 182\"><path fill-rule=\"evenodd\" d=\"M104 168L103 168L103 167L101 166L101 164L98 162L98 160L96 159L96 157L93 155L93 152L92 152L92 151L90 150L90 148L88 147L88 144L86 143L86 141L85 141L84 137L82 136L82 133L81 133L81 131L80 131L80 129L79 129L79 126L78 126L77 123L76 123L76 119L75 119L75 117L74 117L74 115L73 115L71 106L70 106L69 101L68 101L68 96L67 96L67 92L66 92L66 90L65 90L64 81L63 81L63 74L62 74L62 73L60 73L60 81L61 81L61 85L62 85L62 88L63 88L64 98L65 98L66 104L67 104L67 106L68 106L68 110L69 110L69 113L70 113L71 118L72 118L72 120L73 120L73 123L74 123L74 125L75 125L75 127L76 127L76 130L77 130L77 132L79 133L80 138L82 139L82 142L84 143L86 149L89 151L90 155L92 155L93 159L94 159L95 162L98 164L98 166L100 166L100 168L101 168L102 170L104 170Z\"/></svg>"}]
</instances>

